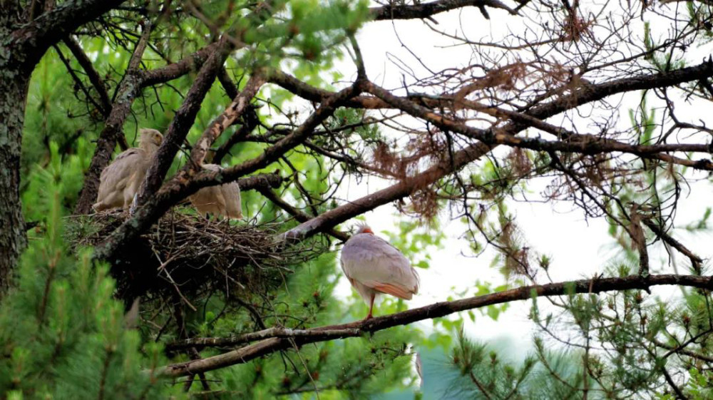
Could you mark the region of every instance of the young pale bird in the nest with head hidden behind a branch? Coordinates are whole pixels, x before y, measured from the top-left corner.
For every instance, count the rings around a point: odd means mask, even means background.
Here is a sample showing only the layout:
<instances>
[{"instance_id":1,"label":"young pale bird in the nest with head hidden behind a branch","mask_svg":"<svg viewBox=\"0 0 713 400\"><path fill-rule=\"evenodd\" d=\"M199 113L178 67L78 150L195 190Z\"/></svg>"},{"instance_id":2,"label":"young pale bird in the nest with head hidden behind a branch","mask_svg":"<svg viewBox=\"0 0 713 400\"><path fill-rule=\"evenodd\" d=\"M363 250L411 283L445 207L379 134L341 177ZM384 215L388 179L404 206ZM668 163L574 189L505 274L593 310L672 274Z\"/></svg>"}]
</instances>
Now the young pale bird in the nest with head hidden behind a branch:
<instances>
[{"instance_id":1,"label":"young pale bird in the nest with head hidden behind a branch","mask_svg":"<svg viewBox=\"0 0 713 400\"><path fill-rule=\"evenodd\" d=\"M220 171L220 165L215 164L203 164L203 168ZM237 220L242 218L240 186L237 182L202 188L190 195L189 199L200 215L212 214Z\"/></svg>"}]
</instances>

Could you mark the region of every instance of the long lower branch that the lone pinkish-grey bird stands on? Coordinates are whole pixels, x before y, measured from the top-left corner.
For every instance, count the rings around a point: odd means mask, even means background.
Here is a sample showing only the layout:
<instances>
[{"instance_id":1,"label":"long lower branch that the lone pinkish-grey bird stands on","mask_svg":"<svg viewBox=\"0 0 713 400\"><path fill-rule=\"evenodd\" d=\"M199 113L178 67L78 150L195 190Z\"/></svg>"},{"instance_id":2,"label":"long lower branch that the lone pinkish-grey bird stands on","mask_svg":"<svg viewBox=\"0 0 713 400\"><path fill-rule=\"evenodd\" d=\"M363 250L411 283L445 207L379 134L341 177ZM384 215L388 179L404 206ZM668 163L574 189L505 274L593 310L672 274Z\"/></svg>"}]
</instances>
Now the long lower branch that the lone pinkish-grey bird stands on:
<instances>
[{"instance_id":1,"label":"long lower branch that the lone pinkish-grey bird stands on","mask_svg":"<svg viewBox=\"0 0 713 400\"><path fill-rule=\"evenodd\" d=\"M304 344L327 342L329 340L345 337L359 337L368 332L378 332L391 327L397 327L399 325L412 324L418 321L445 317L446 315L456 312L487 307L494 304L503 304L519 300L533 299L536 297L560 296L575 293L601 293L631 289L648 289L652 286L661 285L712 289L713 278L694 275L651 275L645 279L638 275L630 275L627 277L576 280L531 285L519 287L517 289L505 290L503 292L486 294L483 296L470 297L468 299L455 300L453 302L438 302L425 307L409 309L408 311L398 312L396 314L351 322L348 324L306 329L309 333L304 332L304 330L299 330L297 333L289 334L284 329L275 329L273 331L268 329L270 332L261 331L252 335L257 337L260 336L260 334L273 334L275 337L263 339L255 344L250 344L249 346L235 349L232 352L219 354L214 357L165 366L162 369L159 369L158 373L163 376L175 377L212 371L224 368L225 366L244 364L252 359L256 359L257 357L272 354L280 350L286 350L291 348L293 344L301 346ZM236 343L245 343L247 339L253 339L253 337L243 335L237 338L189 340L191 341L190 345L192 346L207 346L211 345L211 341L214 341L216 343L220 343L220 346L222 347L230 342L230 340L235 340ZM177 342L173 345L183 346L187 344Z\"/></svg>"}]
</instances>

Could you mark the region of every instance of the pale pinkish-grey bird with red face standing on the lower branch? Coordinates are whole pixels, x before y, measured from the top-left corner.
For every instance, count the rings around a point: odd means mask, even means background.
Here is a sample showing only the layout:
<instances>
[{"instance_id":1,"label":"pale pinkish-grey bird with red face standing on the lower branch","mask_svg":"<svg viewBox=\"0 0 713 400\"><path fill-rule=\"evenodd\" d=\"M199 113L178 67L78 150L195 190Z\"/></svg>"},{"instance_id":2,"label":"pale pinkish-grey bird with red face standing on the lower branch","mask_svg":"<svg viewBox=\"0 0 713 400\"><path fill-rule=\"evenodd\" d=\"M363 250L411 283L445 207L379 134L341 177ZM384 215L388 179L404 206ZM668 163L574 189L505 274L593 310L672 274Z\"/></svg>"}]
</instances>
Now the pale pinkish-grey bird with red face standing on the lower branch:
<instances>
[{"instance_id":1,"label":"pale pinkish-grey bird with red face standing on the lower branch","mask_svg":"<svg viewBox=\"0 0 713 400\"><path fill-rule=\"evenodd\" d=\"M371 318L374 299L387 293L410 300L419 292L419 274L396 247L362 225L342 247L342 270L366 304Z\"/></svg>"}]
</instances>

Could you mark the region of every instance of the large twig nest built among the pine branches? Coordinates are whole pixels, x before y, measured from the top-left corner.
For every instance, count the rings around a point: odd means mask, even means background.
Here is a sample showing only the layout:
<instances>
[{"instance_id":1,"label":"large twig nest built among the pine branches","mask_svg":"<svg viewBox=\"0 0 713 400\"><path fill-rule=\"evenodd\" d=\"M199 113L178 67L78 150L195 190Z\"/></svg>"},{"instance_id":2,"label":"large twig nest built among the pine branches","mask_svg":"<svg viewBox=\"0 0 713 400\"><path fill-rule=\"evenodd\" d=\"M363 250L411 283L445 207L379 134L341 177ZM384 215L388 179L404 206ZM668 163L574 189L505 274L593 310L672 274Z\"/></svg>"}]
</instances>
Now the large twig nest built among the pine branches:
<instances>
[{"instance_id":1,"label":"large twig nest built among the pine branches","mask_svg":"<svg viewBox=\"0 0 713 400\"><path fill-rule=\"evenodd\" d=\"M73 215L69 240L74 249L97 245L127 217L120 211ZM111 260L117 296L125 302L145 294L178 296L193 308L191 302L217 291L226 297L264 292L281 284L285 272L292 272L291 265L319 254L314 243L306 249L275 242L282 225L246 225L168 212Z\"/></svg>"}]
</instances>

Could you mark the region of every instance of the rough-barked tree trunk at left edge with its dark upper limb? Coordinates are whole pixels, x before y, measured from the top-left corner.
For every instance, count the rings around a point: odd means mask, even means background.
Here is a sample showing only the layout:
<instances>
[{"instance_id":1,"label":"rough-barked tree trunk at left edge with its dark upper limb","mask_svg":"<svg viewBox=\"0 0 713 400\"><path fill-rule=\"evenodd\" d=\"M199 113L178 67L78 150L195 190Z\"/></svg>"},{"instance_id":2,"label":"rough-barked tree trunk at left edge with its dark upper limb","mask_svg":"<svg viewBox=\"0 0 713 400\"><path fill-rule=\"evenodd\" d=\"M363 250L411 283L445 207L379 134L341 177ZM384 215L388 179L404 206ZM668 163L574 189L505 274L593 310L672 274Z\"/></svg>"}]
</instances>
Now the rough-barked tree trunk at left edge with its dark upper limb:
<instances>
[{"instance_id":1,"label":"rough-barked tree trunk at left edge with its dark upper limb","mask_svg":"<svg viewBox=\"0 0 713 400\"><path fill-rule=\"evenodd\" d=\"M32 71L48 48L123 1L65 1L31 21L20 20L15 1L0 6L0 293L9 287L27 242L19 193L20 151Z\"/></svg>"}]
</instances>

